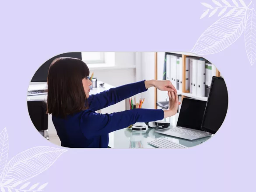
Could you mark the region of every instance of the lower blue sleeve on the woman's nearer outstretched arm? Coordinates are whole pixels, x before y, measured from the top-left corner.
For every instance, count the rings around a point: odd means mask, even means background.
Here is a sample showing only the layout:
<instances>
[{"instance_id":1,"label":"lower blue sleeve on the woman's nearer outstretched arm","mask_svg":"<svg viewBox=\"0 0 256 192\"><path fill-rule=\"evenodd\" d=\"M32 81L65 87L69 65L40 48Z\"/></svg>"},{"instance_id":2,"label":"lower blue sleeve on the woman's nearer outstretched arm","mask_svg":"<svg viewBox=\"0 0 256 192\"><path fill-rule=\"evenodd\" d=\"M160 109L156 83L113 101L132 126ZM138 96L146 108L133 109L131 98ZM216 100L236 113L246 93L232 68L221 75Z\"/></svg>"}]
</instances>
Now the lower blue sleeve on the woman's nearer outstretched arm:
<instances>
[{"instance_id":1,"label":"lower blue sleeve on the woman's nearer outstretched arm","mask_svg":"<svg viewBox=\"0 0 256 192\"><path fill-rule=\"evenodd\" d=\"M84 136L91 138L126 128L136 122L151 122L164 119L162 109L132 109L111 114L85 111L80 126Z\"/></svg>"}]
</instances>

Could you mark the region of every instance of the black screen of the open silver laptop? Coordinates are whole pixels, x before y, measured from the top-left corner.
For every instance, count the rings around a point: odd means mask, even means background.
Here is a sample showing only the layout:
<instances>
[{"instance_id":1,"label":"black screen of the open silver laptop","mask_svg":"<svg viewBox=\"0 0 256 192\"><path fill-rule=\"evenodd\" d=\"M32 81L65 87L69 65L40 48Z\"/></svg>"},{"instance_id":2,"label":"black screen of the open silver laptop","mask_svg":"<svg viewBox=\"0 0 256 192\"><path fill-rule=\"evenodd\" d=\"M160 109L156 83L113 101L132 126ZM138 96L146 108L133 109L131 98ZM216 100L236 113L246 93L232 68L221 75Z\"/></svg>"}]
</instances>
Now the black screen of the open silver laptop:
<instances>
[{"instance_id":1,"label":"black screen of the open silver laptop","mask_svg":"<svg viewBox=\"0 0 256 192\"><path fill-rule=\"evenodd\" d=\"M206 101L183 98L177 126L190 129L200 129L203 120Z\"/></svg>"}]
</instances>

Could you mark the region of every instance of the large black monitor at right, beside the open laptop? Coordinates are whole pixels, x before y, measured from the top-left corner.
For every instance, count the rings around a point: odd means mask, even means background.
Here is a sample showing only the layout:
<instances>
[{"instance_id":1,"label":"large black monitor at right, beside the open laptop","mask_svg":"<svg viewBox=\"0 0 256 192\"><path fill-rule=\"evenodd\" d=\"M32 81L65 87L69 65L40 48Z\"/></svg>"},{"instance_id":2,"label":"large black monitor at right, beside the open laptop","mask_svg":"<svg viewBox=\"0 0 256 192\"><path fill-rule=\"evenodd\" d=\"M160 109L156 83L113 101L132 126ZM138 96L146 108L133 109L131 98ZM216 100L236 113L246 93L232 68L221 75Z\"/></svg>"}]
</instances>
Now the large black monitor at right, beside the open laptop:
<instances>
[{"instance_id":1,"label":"large black monitor at right, beside the open laptop","mask_svg":"<svg viewBox=\"0 0 256 192\"><path fill-rule=\"evenodd\" d=\"M228 110L228 90L222 77L213 77L201 129L215 134Z\"/></svg>"}]
</instances>

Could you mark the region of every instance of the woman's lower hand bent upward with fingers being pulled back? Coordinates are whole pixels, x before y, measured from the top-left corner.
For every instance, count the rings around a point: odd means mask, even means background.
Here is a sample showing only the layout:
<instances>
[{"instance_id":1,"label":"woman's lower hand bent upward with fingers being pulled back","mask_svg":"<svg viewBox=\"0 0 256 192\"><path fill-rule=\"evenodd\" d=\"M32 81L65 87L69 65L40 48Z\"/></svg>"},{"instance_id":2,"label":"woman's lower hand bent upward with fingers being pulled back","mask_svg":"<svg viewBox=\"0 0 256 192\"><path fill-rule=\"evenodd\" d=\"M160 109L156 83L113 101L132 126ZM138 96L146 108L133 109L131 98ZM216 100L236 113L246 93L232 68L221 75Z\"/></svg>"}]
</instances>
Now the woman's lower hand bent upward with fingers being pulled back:
<instances>
[{"instance_id":1,"label":"woman's lower hand bent upward with fingers being pulled back","mask_svg":"<svg viewBox=\"0 0 256 192\"><path fill-rule=\"evenodd\" d=\"M181 104L178 99L177 92L168 91L169 96L169 107L168 110L164 111L164 118L171 117L177 113L178 107Z\"/></svg>"}]
</instances>

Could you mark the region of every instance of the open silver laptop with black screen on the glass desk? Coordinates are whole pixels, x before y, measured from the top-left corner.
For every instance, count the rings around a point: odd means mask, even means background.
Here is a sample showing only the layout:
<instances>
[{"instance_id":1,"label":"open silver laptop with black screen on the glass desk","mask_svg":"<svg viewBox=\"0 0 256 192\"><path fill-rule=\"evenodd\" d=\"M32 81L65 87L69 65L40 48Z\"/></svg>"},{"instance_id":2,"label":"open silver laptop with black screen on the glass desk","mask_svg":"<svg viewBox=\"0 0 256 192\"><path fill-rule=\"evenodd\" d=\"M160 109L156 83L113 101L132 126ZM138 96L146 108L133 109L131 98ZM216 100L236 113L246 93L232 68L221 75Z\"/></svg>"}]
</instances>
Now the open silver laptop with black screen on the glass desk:
<instances>
[{"instance_id":1,"label":"open silver laptop with black screen on the glass desk","mask_svg":"<svg viewBox=\"0 0 256 192\"><path fill-rule=\"evenodd\" d=\"M211 136L211 133L201 129L206 104L207 101L183 98L177 126L155 132L186 140L196 140Z\"/></svg>"}]
</instances>

